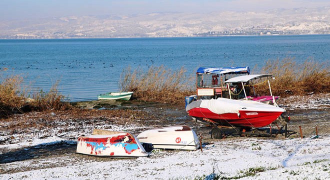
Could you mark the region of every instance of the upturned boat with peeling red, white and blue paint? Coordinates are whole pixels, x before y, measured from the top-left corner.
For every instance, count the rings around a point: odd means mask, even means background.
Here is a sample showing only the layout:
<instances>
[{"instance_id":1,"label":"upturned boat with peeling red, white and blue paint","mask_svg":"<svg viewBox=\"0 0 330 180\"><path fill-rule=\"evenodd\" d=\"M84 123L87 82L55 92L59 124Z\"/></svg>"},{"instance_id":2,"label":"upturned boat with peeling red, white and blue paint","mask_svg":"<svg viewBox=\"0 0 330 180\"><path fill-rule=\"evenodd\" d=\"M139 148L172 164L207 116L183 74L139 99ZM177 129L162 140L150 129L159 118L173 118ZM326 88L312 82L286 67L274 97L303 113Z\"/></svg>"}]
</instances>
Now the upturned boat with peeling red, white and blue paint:
<instances>
[{"instance_id":1,"label":"upturned boat with peeling red, white and blue paint","mask_svg":"<svg viewBox=\"0 0 330 180\"><path fill-rule=\"evenodd\" d=\"M94 129L89 136L78 137L76 153L105 157L143 157L148 156L137 140L128 132Z\"/></svg>"}]
</instances>

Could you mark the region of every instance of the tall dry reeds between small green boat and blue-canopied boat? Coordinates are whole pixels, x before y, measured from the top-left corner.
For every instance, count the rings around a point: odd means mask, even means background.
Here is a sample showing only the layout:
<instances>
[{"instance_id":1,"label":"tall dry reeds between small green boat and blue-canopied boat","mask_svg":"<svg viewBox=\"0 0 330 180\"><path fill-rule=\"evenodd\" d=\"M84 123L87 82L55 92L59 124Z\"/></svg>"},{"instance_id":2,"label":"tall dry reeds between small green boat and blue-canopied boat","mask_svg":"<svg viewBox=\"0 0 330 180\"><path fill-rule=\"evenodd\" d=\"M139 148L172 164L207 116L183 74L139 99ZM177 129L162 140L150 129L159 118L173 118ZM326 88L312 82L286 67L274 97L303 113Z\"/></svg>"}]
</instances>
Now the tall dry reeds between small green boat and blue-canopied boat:
<instances>
[{"instance_id":1,"label":"tall dry reeds between small green boat and blue-canopied boat","mask_svg":"<svg viewBox=\"0 0 330 180\"><path fill-rule=\"evenodd\" d=\"M147 72L130 68L120 75L119 88L122 91L134 91L133 96L140 100L184 104L184 97L195 93L192 90L192 77L185 75L186 70L168 70L163 65L151 66Z\"/></svg>"}]
</instances>

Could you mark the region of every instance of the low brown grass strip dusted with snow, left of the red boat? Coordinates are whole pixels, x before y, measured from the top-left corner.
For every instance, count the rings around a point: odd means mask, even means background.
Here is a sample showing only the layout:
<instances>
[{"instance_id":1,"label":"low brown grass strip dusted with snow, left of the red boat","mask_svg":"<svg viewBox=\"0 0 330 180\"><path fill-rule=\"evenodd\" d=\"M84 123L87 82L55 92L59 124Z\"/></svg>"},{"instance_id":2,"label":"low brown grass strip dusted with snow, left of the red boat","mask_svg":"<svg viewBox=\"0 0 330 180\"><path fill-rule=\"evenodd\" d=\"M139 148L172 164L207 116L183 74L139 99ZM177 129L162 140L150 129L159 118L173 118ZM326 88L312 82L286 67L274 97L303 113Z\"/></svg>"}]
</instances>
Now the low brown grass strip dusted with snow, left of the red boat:
<instances>
[{"instance_id":1,"label":"low brown grass strip dusted with snow, left of the red boat","mask_svg":"<svg viewBox=\"0 0 330 180\"><path fill-rule=\"evenodd\" d=\"M54 114L54 115L52 115ZM30 128L37 127L38 129L51 129L54 127L74 127L84 128L85 123L110 123L127 124L137 123L136 119L155 118L145 111L132 109L114 109L114 110L96 110L96 109L80 109L72 108L69 113L63 110L43 110L41 112L27 112L23 115L11 115L0 125L0 131L9 132L23 132ZM0 120L1 123L1 120ZM74 125L72 125L74 123Z\"/></svg>"}]
</instances>

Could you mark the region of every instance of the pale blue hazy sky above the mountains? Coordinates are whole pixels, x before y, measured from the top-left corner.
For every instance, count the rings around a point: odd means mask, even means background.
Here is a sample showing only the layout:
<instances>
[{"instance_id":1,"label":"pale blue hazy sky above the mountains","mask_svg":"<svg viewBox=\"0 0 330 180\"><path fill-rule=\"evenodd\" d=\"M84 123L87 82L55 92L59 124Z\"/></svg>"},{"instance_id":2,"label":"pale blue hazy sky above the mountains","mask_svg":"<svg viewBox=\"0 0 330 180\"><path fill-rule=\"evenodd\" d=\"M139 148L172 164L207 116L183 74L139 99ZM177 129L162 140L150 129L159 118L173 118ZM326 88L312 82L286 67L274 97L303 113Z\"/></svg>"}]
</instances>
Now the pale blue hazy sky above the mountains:
<instances>
[{"instance_id":1,"label":"pale blue hazy sky above the mountains","mask_svg":"<svg viewBox=\"0 0 330 180\"><path fill-rule=\"evenodd\" d=\"M328 5L330 0L0 0L0 20L168 11L260 11Z\"/></svg>"}]
</instances>

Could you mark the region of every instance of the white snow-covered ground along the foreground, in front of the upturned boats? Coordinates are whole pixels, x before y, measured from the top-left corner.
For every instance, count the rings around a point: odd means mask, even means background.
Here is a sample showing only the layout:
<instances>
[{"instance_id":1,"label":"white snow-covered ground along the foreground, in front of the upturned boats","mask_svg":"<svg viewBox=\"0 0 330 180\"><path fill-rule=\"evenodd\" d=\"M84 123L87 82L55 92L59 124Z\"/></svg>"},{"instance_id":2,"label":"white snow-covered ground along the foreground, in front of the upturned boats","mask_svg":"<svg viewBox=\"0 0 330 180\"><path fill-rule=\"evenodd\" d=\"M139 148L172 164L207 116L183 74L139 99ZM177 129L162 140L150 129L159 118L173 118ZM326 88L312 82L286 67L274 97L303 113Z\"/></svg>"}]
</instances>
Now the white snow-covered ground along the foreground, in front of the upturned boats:
<instances>
[{"instance_id":1,"label":"white snow-covered ground along the foreground, in front of the upturned boats","mask_svg":"<svg viewBox=\"0 0 330 180\"><path fill-rule=\"evenodd\" d=\"M133 159L71 153L0 164L24 169L0 174L0 179L193 179L213 172L239 179L330 179L329 147L327 134L314 139L227 138L205 145L202 152L156 150ZM26 168L35 166L40 168Z\"/></svg>"}]
</instances>

